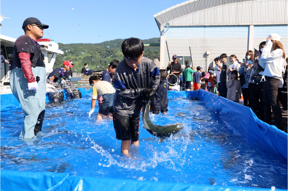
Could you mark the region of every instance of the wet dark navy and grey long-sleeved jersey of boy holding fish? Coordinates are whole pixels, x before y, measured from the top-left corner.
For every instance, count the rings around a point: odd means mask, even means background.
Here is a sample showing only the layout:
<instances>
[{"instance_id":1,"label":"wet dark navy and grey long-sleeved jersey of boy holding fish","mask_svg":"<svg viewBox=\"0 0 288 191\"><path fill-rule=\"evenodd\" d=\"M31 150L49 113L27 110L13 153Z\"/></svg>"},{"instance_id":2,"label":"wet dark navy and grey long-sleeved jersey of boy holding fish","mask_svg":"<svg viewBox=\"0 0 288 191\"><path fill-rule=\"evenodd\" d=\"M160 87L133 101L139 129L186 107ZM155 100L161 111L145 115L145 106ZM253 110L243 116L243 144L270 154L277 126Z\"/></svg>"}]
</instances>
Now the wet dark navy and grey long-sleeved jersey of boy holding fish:
<instances>
[{"instance_id":1,"label":"wet dark navy and grey long-sleeved jersey of boy holding fish","mask_svg":"<svg viewBox=\"0 0 288 191\"><path fill-rule=\"evenodd\" d=\"M146 57L142 57L137 72L127 65L125 59L117 65L114 80L116 94L113 101L115 113L128 117L140 114L145 102L141 89L149 87L149 77L154 78L151 88L158 90L159 69L152 60Z\"/></svg>"}]
</instances>

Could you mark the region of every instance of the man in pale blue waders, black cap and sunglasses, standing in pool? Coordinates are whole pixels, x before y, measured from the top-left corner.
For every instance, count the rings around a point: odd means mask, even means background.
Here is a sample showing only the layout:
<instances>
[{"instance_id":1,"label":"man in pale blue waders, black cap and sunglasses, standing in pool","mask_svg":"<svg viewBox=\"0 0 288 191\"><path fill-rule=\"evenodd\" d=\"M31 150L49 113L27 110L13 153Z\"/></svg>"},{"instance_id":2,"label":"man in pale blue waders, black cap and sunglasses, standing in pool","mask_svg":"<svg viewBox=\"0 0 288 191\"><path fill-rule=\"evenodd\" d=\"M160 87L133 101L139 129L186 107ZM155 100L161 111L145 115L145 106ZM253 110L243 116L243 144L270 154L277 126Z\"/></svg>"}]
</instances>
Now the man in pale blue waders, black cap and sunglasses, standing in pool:
<instances>
[{"instance_id":1,"label":"man in pale blue waders, black cap and sunglasses, standing in pool","mask_svg":"<svg viewBox=\"0 0 288 191\"><path fill-rule=\"evenodd\" d=\"M12 93L24 111L24 127L20 137L33 138L41 131L46 100L46 70L44 55L37 39L48 28L36 18L27 18L22 29L25 35L14 43L13 62L10 63L10 86Z\"/></svg>"}]
</instances>

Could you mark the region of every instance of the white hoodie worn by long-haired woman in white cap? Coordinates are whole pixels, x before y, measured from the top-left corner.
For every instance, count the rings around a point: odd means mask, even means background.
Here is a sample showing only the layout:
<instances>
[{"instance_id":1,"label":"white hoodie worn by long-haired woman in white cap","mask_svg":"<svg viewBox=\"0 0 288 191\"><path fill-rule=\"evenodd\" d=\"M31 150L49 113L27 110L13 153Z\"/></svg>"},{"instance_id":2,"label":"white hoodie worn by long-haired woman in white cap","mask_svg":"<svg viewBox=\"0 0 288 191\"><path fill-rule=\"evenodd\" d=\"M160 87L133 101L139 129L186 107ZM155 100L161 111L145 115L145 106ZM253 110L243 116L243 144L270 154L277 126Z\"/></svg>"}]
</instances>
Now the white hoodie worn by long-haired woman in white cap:
<instances>
[{"instance_id":1,"label":"white hoodie worn by long-haired woman in white cap","mask_svg":"<svg viewBox=\"0 0 288 191\"><path fill-rule=\"evenodd\" d=\"M272 51L272 42L271 40L267 40L262 55L259 58L259 65L264 68L264 76L278 78L283 84L281 73L283 67L283 51L282 49L276 49L271 53L270 51Z\"/></svg>"}]
</instances>

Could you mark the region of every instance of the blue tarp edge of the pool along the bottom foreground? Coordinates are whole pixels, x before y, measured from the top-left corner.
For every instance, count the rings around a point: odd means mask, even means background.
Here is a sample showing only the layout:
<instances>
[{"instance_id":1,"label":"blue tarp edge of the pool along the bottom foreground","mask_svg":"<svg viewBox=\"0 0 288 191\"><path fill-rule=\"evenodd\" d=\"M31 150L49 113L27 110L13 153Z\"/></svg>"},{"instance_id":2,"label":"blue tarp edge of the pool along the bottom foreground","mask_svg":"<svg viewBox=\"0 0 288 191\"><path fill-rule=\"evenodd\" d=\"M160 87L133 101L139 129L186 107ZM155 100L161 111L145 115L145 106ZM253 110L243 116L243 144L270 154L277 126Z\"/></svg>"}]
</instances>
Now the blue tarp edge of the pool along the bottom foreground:
<instances>
[{"instance_id":1,"label":"blue tarp edge of the pool along the bottom foreground","mask_svg":"<svg viewBox=\"0 0 288 191\"><path fill-rule=\"evenodd\" d=\"M213 186L174 182L152 182L114 178L73 176L68 173L1 171L1 190L73 190L73 191L271 191L269 188L248 188L236 186ZM276 189L283 190L283 189Z\"/></svg>"}]
</instances>

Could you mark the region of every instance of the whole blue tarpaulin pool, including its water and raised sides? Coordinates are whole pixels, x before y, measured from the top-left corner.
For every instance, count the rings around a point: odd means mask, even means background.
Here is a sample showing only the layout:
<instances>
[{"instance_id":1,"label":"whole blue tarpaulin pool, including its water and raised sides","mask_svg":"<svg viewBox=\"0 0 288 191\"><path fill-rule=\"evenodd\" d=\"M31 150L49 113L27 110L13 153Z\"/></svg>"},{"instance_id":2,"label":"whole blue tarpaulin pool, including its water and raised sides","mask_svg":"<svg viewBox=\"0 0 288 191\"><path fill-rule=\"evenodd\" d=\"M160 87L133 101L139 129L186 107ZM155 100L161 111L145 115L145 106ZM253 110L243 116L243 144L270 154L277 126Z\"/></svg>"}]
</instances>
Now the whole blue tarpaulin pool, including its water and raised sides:
<instances>
[{"instance_id":1,"label":"whole blue tarpaulin pool, including its water and raised sides","mask_svg":"<svg viewBox=\"0 0 288 191\"><path fill-rule=\"evenodd\" d=\"M139 130L130 161L111 120L87 118L91 90L79 89L83 99L46 106L41 135L26 142L17 137L20 104L1 95L1 190L287 189L287 134L248 107L202 89L169 91L168 115L151 120L186 128L160 144Z\"/></svg>"}]
</instances>

